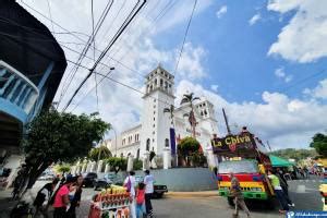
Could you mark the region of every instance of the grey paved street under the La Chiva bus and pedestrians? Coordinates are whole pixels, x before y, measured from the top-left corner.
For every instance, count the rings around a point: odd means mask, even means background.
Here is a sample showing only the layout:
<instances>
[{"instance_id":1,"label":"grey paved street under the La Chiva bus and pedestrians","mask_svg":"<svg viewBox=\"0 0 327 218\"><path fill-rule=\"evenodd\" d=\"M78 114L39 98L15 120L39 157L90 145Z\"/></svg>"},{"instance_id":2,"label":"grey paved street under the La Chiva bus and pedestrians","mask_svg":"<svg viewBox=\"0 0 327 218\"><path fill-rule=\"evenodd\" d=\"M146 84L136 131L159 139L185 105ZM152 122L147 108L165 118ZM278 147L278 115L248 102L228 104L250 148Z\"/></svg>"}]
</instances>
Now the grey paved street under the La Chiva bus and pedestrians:
<instances>
[{"instance_id":1,"label":"grey paved street under the La Chiva bus and pedestrians","mask_svg":"<svg viewBox=\"0 0 327 218\"><path fill-rule=\"evenodd\" d=\"M294 210L320 210L322 199L318 193L320 180L294 180L290 181L290 195L295 203ZM83 194L83 203L80 208L80 217L87 217L89 208L89 199L95 192L92 189L85 189ZM166 196L162 199L153 201L155 208L155 217L157 218L217 218L231 217L232 208L227 204L226 198L219 196L202 196L202 197L186 197L186 196ZM284 217L278 214L278 205L275 210L267 210L263 205L250 205L253 217ZM246 217L241 214L241 217Z\"/></svg>"}]
</instances>

